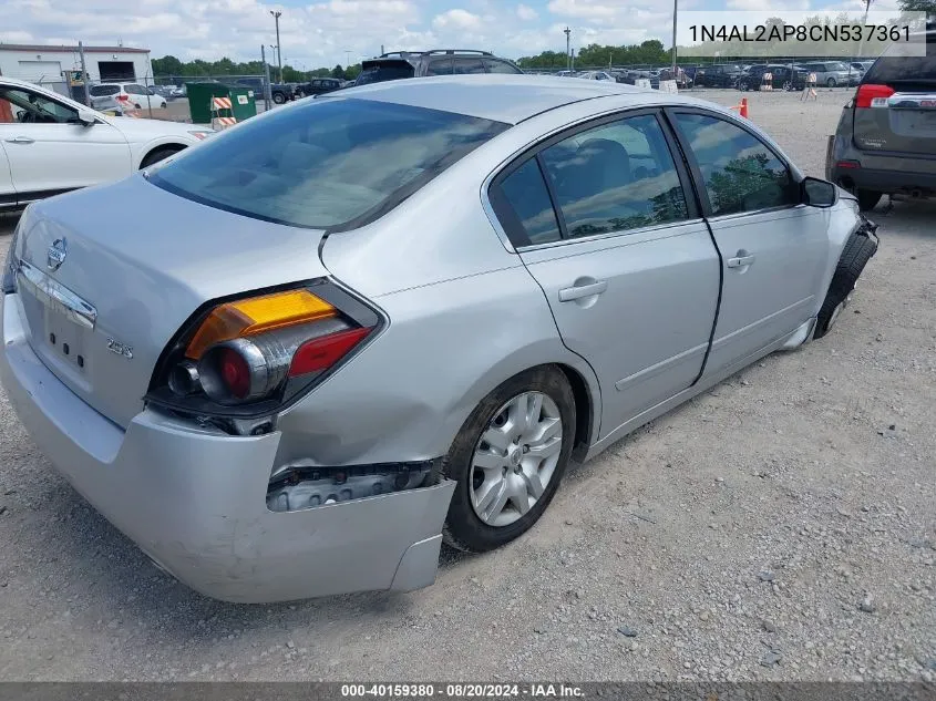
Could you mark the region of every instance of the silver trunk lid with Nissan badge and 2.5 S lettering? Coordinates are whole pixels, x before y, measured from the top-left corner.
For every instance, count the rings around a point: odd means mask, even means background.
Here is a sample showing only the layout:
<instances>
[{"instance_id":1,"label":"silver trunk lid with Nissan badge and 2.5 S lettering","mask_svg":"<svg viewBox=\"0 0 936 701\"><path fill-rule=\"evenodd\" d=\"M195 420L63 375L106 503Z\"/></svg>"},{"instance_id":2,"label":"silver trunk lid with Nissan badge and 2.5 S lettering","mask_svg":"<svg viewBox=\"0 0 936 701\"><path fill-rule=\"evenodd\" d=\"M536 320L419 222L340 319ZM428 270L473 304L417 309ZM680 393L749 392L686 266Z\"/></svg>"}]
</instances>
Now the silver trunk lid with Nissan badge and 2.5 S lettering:
<instances>
[{"instance_id":1,"label":"silver trunk lid with Nissan badge and 2.5 S lettering","mask_svg":"<svg viewBox=\"0 0 936 701\"><path fill-rule=\"evenodd\" d=\"M37 203L17 240L30 343L126 427L160 354L198 307L327 275L321 237L192 202L142 175Z\"/></svg>"}]
</instances>

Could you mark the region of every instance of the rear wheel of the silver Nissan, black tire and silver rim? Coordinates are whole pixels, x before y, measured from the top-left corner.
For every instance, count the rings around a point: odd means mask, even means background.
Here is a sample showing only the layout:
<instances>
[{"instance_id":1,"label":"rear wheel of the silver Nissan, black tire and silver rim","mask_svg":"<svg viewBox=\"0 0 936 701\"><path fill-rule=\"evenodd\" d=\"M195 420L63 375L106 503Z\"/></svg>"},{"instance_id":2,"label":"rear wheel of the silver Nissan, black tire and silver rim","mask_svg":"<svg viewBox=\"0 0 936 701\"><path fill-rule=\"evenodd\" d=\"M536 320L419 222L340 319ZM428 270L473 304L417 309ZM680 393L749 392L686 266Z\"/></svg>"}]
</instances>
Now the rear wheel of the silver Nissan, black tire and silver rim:
<instances>
[{"instance_id":1,"label":"rear wheel of the silver Nissan, black tire and silver rim","mask_svg":"<svg viewBox=\"0 0 936 701\"><path fill-rule=\"evenodd\" d=\"M457 482L442 535L467 553L528 530L552 502L575 442L572 386L554 365L527 370L485 396L442 462Z\"/></svg>"}]
</instances>

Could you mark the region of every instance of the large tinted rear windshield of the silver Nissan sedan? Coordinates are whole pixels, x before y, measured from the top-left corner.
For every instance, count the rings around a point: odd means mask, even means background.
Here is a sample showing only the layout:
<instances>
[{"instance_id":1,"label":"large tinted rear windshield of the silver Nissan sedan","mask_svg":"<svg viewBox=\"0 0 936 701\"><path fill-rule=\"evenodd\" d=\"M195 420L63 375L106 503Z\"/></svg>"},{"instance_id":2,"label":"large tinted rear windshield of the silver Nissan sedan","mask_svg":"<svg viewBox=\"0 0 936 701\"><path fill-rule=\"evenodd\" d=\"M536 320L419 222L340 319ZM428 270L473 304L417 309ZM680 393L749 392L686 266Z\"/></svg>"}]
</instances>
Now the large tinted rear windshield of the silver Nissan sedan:
<instances>
[{"instance_id":1,"label":"large tinted rear windshield of the silver Nissan sedan","mask_svg":"<svg viewBox=\"0 0 936 701\"><path fill-rule=\"evenodd\" d=\"M326 97L206 141L150 176L168 192L256 219L341 230L382 216L507 124Z\"/></svg>"}]
</instances>

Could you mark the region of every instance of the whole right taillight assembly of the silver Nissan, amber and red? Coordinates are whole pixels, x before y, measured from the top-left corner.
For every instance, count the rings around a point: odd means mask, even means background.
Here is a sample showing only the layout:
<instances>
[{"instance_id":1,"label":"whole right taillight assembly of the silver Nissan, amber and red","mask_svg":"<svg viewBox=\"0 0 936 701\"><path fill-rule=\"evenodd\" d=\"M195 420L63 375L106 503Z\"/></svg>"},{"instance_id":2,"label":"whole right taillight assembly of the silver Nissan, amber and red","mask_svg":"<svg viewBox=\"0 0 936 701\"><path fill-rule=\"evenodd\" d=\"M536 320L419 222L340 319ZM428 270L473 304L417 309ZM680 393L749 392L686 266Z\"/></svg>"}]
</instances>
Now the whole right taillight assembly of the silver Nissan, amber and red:
<instances>
[{"instance_id":1,"label":"whole right taillight assembly of the silver Nissan, amber and red","mask_svg":"<svg viewBox=\"0 0 936 701\"><path fill-rule=\"evenodd\" d=\"M379 326L374 310L329 282L215 305L164 353L147 398L198 414L268 414Z\"/></svg>"}]
</instances>

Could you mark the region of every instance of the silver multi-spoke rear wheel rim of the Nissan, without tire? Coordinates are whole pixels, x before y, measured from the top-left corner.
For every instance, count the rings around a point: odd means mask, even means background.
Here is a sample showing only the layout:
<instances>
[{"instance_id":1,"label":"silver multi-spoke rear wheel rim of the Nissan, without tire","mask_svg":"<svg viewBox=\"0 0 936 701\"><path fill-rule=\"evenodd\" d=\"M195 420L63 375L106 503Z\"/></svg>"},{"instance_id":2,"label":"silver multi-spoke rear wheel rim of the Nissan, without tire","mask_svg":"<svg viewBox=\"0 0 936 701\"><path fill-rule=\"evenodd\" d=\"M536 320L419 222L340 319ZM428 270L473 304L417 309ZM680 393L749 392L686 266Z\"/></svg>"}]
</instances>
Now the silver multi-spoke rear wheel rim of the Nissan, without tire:
<instances>
[{"instance_id":1,"label":"silver multi-spoke rear wheel rim of the Nissan, without tire","mask_svg":"<svg viewBox=\"0 0 936 701\"><path fill-rule=\"evenodd\" d=\"M507 526L536 504L563 445L559 409L547 394L524 392L497 410L472 456L470 496L488 526Z\"/></svg>"}]
</instances>

